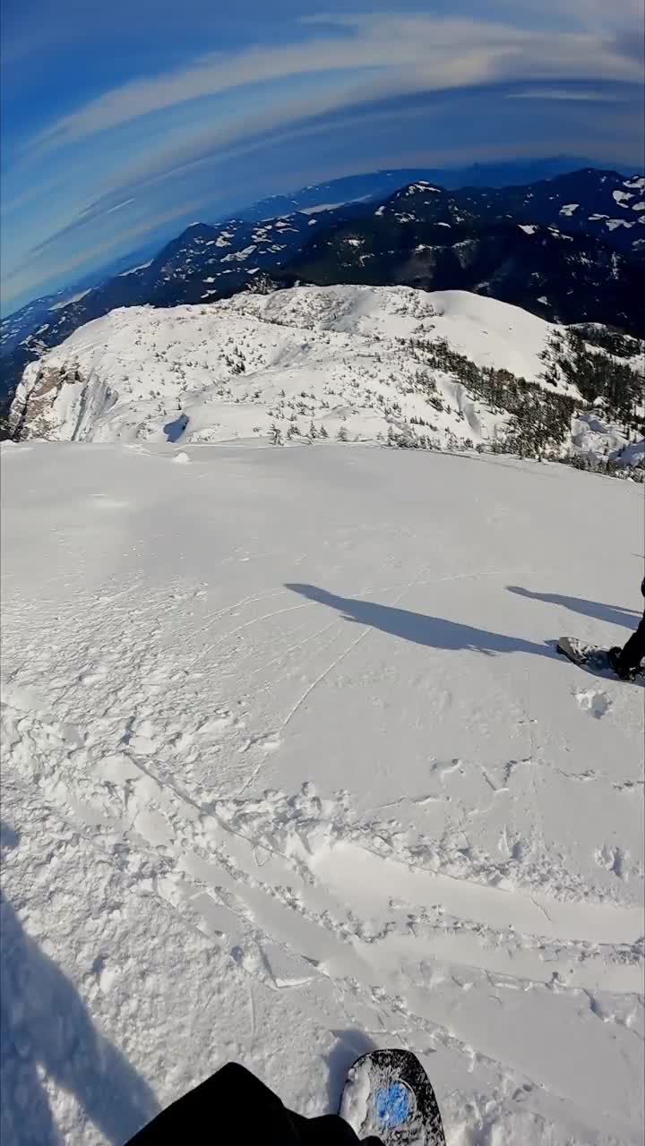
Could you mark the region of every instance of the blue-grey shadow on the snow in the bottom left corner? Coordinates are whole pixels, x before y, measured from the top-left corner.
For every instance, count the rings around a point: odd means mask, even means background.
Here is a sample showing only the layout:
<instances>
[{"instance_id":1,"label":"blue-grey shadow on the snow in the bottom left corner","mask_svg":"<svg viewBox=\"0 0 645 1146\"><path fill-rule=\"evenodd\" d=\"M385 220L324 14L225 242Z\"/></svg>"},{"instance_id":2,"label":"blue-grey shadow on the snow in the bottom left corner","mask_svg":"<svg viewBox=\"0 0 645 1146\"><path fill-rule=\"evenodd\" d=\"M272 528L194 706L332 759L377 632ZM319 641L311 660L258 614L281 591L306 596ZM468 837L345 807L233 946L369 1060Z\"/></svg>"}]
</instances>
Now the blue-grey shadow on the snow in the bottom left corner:
<instances>
[{"instance_id":1,"label":"blue-grey shadow on the snow in the bottom left corner","mask_svg":"<svg viewBox=\"0 0 645 1146\"><path fill-rule=\"evenodd\" d=\"M0 845L18 833L0 825ZM0 1139L61 1146L39 1068L75 1097L104 1138L121 1146L160 1109L142 1078L95 1029L83 999L24 931L0 895Z\"/></svg>"}]
</instances>

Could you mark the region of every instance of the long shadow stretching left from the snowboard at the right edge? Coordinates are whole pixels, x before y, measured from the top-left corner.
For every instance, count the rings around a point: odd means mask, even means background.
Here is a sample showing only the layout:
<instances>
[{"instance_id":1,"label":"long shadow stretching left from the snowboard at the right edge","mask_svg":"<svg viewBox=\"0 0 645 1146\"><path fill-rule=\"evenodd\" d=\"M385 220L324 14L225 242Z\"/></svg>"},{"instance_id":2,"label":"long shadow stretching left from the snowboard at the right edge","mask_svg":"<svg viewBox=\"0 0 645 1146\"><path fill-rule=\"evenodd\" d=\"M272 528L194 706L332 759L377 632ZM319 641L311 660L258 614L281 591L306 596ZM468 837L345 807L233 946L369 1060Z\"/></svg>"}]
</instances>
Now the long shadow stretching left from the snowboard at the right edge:
<instances>
[{"instance_id":1,"label":"long shadow stretching left from the snowboard at the right edge","mask_svg":"<svg viewBox=\"0 0 645 1146\"><path fill-rule=\"evenodd\" d=\"M360 601L356 597L337 597L313 584L286 584L286 589L300 592L309 601L317 601L329 609L342 613L343 620L366 625L390 636L402 637L414 644L427 645L430 649L473 649L492 657L500 652L528 652L537 657L554 656L546 644L536 644L522 637L505 636L503 633L491 633L489 629L477 629L460 621L449 621L443 617L429 617L426 613L413 613L409 609L396 605L379 605L373 601Z\"/></svg>"}]
</instances>

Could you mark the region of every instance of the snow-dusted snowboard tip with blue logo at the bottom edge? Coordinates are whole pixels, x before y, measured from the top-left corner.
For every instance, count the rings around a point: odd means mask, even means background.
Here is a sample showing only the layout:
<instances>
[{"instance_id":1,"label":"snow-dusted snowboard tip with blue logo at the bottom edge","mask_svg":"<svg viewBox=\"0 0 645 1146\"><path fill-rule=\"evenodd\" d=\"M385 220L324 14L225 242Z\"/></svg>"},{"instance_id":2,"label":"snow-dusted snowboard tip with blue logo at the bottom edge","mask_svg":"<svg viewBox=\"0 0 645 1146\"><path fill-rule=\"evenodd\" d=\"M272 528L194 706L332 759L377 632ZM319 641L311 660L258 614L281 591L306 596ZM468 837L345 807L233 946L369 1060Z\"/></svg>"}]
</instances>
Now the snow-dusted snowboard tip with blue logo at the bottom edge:
<instances>
[{"instance_id":1,"label":"snow-dusted snowboard tip with blue logo at the bottom edge","mask_svg":"<svg viewBox=\"0 0 645 1146\"><path fill-rule=\"evenodd\" d=\"M350 1067L340 1115L383 1146L445 1146L430 1081L411 1051L371 1051Z\"/></svg>"}]
</instances>

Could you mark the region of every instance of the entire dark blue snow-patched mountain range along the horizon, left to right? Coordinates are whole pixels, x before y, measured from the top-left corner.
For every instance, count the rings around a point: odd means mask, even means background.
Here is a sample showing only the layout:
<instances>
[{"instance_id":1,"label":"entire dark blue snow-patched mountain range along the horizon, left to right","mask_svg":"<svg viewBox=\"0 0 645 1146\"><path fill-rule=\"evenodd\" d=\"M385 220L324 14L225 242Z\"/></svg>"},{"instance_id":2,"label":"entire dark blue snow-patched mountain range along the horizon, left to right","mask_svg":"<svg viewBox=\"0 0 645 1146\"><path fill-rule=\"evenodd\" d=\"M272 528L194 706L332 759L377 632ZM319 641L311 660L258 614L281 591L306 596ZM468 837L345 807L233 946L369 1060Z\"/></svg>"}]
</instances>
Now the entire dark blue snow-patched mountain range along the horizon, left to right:
<instances>
[{"instance_id":1,"label":"entire dark blue snow-patched mountain range along the horizon, left to right","mask_svg":"<svg viewBox=\"0 0 645 1146\"><path fill-rule=\"evenodd\" d=\"M450 190L406 170L303 188L216 226L193 223L142 265L9 315L1 392L13 393L28 362L115 308L296 282L469 290L549 321L643 333L644 225L645 179L596 168L507 187Z\"/></svg>"}]
</instances>

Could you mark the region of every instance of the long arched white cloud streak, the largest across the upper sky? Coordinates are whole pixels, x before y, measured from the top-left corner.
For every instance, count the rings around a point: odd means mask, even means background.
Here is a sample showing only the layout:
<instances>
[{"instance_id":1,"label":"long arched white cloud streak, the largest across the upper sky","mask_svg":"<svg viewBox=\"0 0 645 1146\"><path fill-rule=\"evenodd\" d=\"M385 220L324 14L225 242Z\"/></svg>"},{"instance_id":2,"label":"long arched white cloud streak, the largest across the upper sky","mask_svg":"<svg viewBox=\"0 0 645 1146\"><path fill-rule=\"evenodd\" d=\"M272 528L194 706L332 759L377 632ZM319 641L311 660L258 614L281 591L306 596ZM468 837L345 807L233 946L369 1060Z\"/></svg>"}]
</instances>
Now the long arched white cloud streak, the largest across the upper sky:
<instances>
[{"instance_id":1,"label":"long arched white cloud streak, the largest across the upper sky","mask_svg":"<svg viewBox=\"0 0 645 1146\"><path fill-rule=\"evenodd\" d=\"M334 24L343 34L318 32L318 22ZM328 16L306 23L314 34L304 42L209 53L181 69L121 85L59 119L37 135L32 146L71 143L187 101L251 84L320 73L328 74L328 86L333 87L334 72L367 72L374 96L380 92L393 95L414 88L436 91L519 76L632 81L642 76L638 61L625 57L603 29L543 32L432 15ZM343 79L341 86L345 85Z\"/></svg>"}]
</instances>

